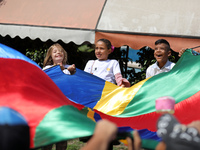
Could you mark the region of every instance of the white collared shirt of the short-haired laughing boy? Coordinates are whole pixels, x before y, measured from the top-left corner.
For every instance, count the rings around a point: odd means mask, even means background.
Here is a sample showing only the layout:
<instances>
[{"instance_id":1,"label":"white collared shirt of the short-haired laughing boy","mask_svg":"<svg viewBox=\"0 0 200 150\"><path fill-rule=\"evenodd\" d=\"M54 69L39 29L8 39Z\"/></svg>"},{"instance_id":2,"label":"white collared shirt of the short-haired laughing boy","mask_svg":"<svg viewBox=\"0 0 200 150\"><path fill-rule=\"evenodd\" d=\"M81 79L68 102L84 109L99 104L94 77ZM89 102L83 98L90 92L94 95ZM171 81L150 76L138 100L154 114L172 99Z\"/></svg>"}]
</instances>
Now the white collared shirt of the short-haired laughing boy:
<instances>
[{"instance_id":1,"label":"white collared shirt of the short-haired laughing boy","mask_svg":"<svg viewBox=\"0 0 200 150\"><path fill-rule=\"evenodd\" d=\"M158 67L157 62L155 62L153 65L151 65L147 68L146 78L155 76L162 72L168 72L174 67L174 65L175 65L175 63L168 60L167 63L162 68L160 68L160 67Z\"/></svg>"}]
</instances>

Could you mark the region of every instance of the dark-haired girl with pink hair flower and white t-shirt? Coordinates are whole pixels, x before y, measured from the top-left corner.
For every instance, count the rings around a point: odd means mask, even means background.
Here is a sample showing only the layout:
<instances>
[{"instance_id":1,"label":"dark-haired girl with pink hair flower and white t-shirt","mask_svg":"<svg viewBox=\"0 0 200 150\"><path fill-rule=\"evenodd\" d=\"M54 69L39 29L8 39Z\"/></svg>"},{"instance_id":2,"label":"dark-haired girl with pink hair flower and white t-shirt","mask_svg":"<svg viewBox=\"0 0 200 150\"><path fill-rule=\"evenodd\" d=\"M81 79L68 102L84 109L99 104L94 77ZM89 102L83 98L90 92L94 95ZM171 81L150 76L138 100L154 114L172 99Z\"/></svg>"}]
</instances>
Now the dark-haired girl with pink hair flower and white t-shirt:
<instances>
[{"instance_id":1,"label":"dark-haired girl with pink hair flower and white t-shirt","mask_svg":"<svg viewBox=\"0 0 200 150\"><path fill-rule=\"evenodd\" d=\"M96 60L89 60L84 71L91 73L121 87L130 87L127 79L122 78L121 70L117 60L108 59L114 48L107 39L99 39L95 45Z\"/></svg>"}]
</instances>

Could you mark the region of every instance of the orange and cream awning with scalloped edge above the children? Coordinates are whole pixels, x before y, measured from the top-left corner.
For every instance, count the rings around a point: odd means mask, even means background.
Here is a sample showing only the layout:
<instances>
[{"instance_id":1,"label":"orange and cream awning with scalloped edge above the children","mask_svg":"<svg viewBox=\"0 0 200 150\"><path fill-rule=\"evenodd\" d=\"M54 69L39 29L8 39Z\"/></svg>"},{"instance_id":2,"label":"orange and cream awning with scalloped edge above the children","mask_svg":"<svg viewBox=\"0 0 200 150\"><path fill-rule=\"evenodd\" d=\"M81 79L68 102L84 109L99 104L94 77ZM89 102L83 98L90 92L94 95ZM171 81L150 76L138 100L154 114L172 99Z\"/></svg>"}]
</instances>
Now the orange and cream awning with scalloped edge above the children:
<instances>
[{"instance_id":1,"label":"orange and cream awning with scalloped edge above the children","mask_svg":"<svg viewBox=\"0 0 200 150\"><path fill-rule=\"evenodd\" d=\"M0 0L0 35L154 47L165 38L175 51L200 45L199 1Z\"/></svg>"}]
</instances>

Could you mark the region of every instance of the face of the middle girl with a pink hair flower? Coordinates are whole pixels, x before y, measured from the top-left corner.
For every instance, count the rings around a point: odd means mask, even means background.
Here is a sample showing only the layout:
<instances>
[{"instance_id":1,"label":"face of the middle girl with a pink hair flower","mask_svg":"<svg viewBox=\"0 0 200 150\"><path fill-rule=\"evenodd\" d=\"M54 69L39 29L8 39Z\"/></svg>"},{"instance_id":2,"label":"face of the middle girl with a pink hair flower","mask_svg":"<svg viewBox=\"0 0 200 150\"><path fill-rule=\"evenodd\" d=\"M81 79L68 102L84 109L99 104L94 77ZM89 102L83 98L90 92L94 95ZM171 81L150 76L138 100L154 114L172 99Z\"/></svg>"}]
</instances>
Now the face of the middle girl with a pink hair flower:
<instances>
[{"instance_id":1,"label":"face of the middle girl with a pink hair flower","mask_svg":"<svg viewBox=\"0 0 200 150\"><path fill-rule=\"evenodd\" d=\"M111 49L108 49L103 41L98 41L95 45L95 56L99 60L107 60L108 55L111 53Z\"/></svg>"}]
</instances>

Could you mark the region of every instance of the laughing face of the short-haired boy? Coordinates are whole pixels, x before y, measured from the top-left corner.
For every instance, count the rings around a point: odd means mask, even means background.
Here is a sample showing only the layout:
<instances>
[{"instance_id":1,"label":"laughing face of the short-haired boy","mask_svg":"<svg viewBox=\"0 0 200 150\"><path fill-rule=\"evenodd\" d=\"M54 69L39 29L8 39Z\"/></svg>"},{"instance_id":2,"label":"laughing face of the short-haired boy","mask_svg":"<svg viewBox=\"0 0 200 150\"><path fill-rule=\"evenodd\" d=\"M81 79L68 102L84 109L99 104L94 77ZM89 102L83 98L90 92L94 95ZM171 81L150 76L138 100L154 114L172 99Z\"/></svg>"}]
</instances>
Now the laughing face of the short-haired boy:
<instances>
[{"instance_id":1,"label":"laughing face of the short-haired boy","mask_svg":"<svg viewBox=\"0 0 200 150\"><path fill-rule=\"evenodd\" d=\"M154 49L154 57L156 58L156 61L158 62L158 66L162 68L167 60L168 57L171 55L171 50L169 49L169 46L165 43L157 44Z\"/></svg>"}]
</instances>

